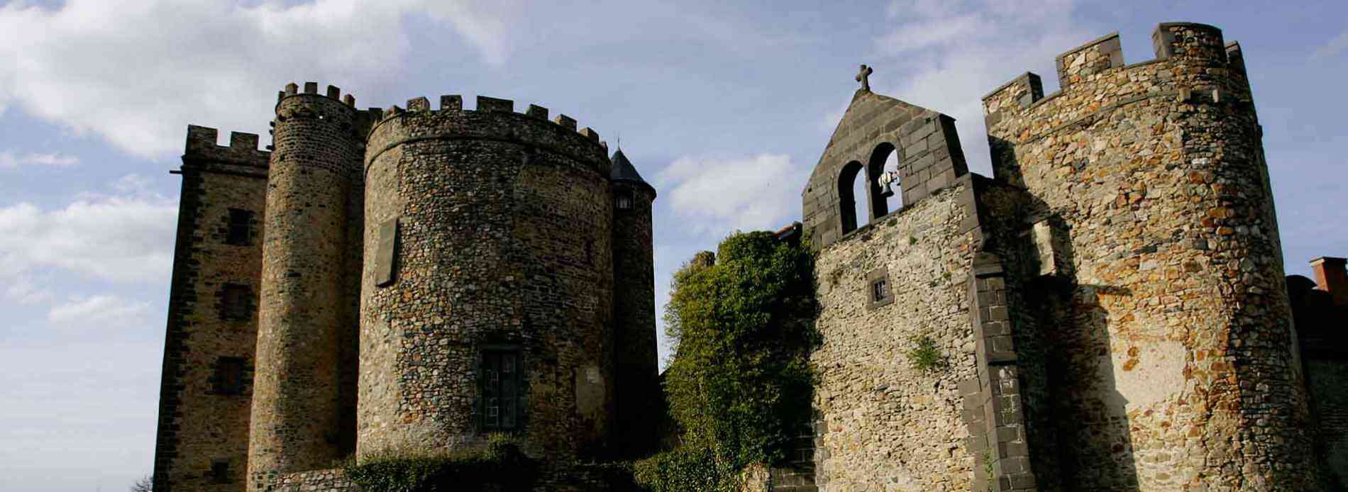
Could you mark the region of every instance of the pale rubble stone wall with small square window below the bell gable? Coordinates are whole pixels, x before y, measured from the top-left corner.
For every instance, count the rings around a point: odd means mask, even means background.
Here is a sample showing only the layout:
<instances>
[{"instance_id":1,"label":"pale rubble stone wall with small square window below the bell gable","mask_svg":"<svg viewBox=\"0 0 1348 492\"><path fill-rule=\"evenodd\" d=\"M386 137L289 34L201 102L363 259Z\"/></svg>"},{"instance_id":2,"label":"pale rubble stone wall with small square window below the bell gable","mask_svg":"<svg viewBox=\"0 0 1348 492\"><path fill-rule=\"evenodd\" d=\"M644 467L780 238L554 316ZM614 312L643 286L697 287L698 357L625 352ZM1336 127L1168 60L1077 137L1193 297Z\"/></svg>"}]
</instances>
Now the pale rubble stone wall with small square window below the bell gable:
<instances>
[{"instance_id":1,"label":"pale rubble stone wall with small square window below the bell gable","mask_svg":"<svg viewBox=\"0 0 1348 492\"><path fill-rule=\"evenodd\" d=\"M977 379L967 282L977 233L967 183L863 226L820 251L816 282L822 345L816 407L825 427L816 448L820 489L968 491L958 383ZM892 301L872 302L887 278ZM910 361L930 337L945 367Z\"/></svg>"}]
</instances>

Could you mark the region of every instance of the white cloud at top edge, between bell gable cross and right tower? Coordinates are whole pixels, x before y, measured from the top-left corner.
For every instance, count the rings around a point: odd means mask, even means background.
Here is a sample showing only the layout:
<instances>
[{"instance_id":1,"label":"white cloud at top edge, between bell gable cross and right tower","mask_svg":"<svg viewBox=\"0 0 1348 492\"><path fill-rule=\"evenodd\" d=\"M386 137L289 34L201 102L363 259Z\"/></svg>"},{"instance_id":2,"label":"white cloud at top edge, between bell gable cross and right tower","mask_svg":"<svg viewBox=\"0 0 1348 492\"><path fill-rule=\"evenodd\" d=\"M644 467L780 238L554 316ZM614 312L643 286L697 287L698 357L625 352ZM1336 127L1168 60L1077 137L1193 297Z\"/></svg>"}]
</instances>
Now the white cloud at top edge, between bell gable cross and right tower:
<instances>
[{"instance_id":1,"label":"white cloud at top edge, between bell gable cross and right tower","mask_svg":"<svg viewBox=\"0 0 1348 492\"><path fill-rule=\"evenodd\" d=\"M890 63L871 84L953 116L969 166L989 173L983 96L1027 70L1051 90L1054 57L1105 34L1082 28L1074 7L1073 0L895 1L888 12L898 24L875 40ZM886 78L884 66L906 71Z\"/></svg>"}]
</instances>

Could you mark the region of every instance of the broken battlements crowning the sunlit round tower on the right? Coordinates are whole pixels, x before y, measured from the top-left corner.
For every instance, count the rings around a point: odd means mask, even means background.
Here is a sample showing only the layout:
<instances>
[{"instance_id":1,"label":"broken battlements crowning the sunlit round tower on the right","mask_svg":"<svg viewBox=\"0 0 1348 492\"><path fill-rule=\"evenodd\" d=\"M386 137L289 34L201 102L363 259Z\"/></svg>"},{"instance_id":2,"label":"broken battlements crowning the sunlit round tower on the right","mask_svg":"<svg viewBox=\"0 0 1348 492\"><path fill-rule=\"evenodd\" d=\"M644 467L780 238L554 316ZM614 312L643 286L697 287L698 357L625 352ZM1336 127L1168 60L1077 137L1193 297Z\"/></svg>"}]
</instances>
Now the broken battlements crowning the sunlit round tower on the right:
<instances>
[{"instance_id":1,"label":"broken battlements crowning the sunlit round tower on the right","mask_svg":"<svg viewBox=\"0 0 1348 492\"><path fill-rule=\"evenodd\" d=\"M1240 44L1235 42L1224 43L1220 28L1197 23L1162 23L1157 26L1151 40L1155 58L1132 65L1126 65L1124 62L1119 32L1111 32L1064 51L1055 57L1054 63L1057 66L1058 86L1061 88L1058 92L1045 96L1039 75L1024 73L983 97L988 125L991 127L1000 120L999 112L1029 109L1064 93L1072 93L1082 84L1103 81L1116 69L1132 70L1155 63L1170 63L1193 69L1217 69L1198 71L1202 71L1200 75L1206 78L1229 74L1231 78L1240 80L1240 84L1236 84L1237 86L1242 86L1244 82L1244 58L1240 54ZM1157 82L1173 82L1177 75L1185 74L1169 70L1162 73L1161 80ZM1117 81L1119 84L1136 82L1136 77L1119 78ZM1213 82L1209 85L1220 84Z\"/></svg>"}]
</instances>

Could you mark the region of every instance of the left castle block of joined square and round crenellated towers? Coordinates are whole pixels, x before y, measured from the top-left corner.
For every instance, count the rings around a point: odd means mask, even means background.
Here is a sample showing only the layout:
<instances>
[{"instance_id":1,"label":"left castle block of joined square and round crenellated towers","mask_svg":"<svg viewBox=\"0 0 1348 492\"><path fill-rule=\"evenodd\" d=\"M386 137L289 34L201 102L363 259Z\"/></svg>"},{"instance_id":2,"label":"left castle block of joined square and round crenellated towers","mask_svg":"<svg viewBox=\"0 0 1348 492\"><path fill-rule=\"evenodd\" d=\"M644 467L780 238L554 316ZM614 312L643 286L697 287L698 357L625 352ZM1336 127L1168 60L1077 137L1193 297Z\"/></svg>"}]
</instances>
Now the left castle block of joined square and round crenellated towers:
<instances>
[{"instance_id":1,"label":"left castle block of joined square and round crenellated towers","mask_svg":"<svg viewBox=\"0 0 1348 492\"><path fill-rule=\"evenodd\" d=\"M648 442L655 189L547 112L359 111L310 82L270 152L189 127L155 491L492 431L559 460Z\"/></svg>"}]
</instances>

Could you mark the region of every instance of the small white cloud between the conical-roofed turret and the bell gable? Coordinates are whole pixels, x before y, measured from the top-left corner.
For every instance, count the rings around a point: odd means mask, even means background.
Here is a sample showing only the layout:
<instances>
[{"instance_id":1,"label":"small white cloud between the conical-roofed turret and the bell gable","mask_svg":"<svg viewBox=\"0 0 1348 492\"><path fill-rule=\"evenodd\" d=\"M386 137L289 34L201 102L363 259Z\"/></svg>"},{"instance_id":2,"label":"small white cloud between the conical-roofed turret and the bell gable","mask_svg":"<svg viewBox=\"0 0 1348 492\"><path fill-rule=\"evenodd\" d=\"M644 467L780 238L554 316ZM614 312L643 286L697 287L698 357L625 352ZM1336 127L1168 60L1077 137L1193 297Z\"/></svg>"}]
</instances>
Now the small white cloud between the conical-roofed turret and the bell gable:
<instances>
[{"instance_id":1,"label":"small white cloud between the conical-roofed turret and the bell gable","mask_svg":"<svg viewBox=\"0 0 1348 492\"><path fill-rule=\"evenodd\" d=\"M674 214L693 232L776 229L801 208L809 168L786 155L674 160L655 178Z\"/></svg>"}]
</instances>

